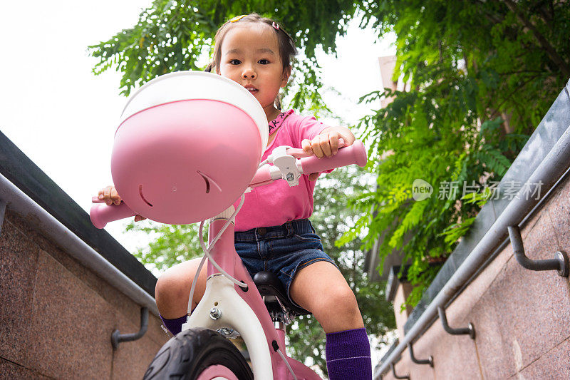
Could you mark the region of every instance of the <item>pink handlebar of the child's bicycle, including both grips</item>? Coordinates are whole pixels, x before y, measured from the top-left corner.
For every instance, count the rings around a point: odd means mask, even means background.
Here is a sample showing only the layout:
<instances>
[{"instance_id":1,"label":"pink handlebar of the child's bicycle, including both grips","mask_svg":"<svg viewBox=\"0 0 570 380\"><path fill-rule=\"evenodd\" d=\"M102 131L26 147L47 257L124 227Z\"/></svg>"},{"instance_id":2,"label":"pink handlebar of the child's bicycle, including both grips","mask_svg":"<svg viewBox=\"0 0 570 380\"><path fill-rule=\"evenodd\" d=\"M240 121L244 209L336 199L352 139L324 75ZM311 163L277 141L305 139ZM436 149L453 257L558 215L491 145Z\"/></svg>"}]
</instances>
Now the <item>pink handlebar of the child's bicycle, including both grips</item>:
<instances>
[{"instance_id":1,"label":"pink handlebar of the child's bicycle, including both grips","mask_svg":"<svg viewBox=\"0 0 570 380\"><path fill-rule=\"evenodd\" d=\"M358 166L366 165L368 158L366 156L366 148L361 141L356 140L353 145L338 149L338 153L331 157L317 158L316 156L301 158L297 160L299 171L304 174L319 173L341 166L357 164ZM264 165L257 170L251 187L266 185L273 182L271 178L271 165ZM95 198L93 202L98 202ZM137 212L128 207L125 202L120 205L105 205L105 203L95 203L89 212L91 222L97 228L103 228L108 222L124 219L137 215ZM144 215L142 215L144 216Z\"/></svg>"}]
</instances>

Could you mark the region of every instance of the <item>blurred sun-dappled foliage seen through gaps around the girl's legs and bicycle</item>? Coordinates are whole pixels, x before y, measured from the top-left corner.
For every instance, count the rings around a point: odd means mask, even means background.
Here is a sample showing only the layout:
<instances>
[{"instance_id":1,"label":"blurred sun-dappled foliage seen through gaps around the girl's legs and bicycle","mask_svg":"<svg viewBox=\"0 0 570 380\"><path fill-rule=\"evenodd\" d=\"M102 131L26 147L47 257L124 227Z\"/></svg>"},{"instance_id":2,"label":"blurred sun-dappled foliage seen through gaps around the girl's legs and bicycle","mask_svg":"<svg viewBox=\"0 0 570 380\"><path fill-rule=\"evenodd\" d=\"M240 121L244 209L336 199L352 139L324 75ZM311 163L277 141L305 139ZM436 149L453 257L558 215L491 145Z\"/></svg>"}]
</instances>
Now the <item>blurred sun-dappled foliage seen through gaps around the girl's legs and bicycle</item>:
<instances>
[{"instance_id":1,"label":"blurred sun-dappled foliage seen through gaps around the girl's legs and bicycle","mask_svg":"<svg viewBox=\"0 0 570 380\"><path fill-rule=\"evenodd\" d=\"M314 214L311 220L323 240L323 247L341 269L346 281L356 294L364 324L371 337L383 337L395 328L393 307L385 301L385 282L369 282L363 265L365 253L356 238L344 246L336 244L358 219L356 211L347 207L347 195L360 195L369 183L363 182L363 170L340 168L319 178L314 196ZM371 181L369 181L371 182ZM373 182L373 181L372 181ZM130 223L130 231L151 234L154 241L134 255L150 267L161 272L172 265L202 256L197 239L197 225L156 225L150 222ZM287 334L291 355L318 364L326 374L325 333L312 316L303 316L289 326Z\"/></svg>"}]
</instances>

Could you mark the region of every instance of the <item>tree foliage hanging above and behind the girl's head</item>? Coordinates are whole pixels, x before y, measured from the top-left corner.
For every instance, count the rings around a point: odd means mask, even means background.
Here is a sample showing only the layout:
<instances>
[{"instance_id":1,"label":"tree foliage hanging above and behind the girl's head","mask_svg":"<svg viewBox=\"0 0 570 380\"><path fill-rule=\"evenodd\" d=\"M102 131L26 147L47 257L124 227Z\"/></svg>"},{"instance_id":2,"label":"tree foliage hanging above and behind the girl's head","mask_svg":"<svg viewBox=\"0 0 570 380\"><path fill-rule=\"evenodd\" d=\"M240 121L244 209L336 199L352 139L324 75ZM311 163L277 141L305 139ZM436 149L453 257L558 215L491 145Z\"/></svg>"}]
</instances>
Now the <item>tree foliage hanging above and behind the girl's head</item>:
<instances>
[{"instance_id":1,"label":"tree foliage hanging above and behind the girl's head","mask_svg":"<svg viewBox=\"0 0 570 380\"><path fill-rule=\"evenodd\" d=\"M116 66L123 73L121 93L128 95L135 86L164 73L202 70L218 27L234 16L257 12L284 24L303 52L291 77L290 87L296 88L291 107L321 111L326 107L316 91L321 81L315 50L318 46L334 52L336 36L346 33L347 21L355 11L356 4L348 0L331 4L303 0L155 0L140 13L135 26L89 46L90 54L100 59L93 73L98 75Z\"/></svg>"}]
</instances>

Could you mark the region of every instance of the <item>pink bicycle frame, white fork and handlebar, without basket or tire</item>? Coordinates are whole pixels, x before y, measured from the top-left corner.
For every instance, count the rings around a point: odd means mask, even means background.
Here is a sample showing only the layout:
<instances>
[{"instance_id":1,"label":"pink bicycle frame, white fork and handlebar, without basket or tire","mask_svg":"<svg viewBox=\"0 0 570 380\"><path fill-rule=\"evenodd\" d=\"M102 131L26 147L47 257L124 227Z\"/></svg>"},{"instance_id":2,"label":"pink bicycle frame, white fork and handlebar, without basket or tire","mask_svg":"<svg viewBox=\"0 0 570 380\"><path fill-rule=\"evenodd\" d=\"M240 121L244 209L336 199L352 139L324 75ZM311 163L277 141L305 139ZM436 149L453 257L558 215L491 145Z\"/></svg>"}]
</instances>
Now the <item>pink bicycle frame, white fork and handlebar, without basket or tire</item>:
<instances>
[{"instance_id":1,"label":"pink bicycle frame, white fork and handlebar, without basket or tire","mask_svg":"<svg viewBox=\"0 0 570 380\"><path fill-rule=\"evenodd\" d=\"M296 160L296 157L299 160ZM299 148L278 147L265 160L265 163L269 162L274 165L261 165L258 167L257 173L252 178L249 187L254 188L267 185L278 179L287 180L289 185L296 185L298 183L297 180L303 173L320 173L355 163L359 166L364 166L366 161L366 149L358 140L351 146L339 149L336 155L326 158L307 157L306 153ZM278 169L275 167L278 167ZM209 188L209 183L207 183L207 186ZM140 190L142 185L138 188ZM219 190L221 191L222 189ZM194 195L198 196L197 194ZM140 197L142 197L142 192L140 192ZM205 200L207 198L204 198L202 195L200 199ZM101 201L95 197L93 202ZM157 207L157 210L160 208ZM118 206L93 205L90 217L95 227L103 228L111 220L118 220L139 213L133 211L123 202ZM212 222L209 225L210 245L212 245L214 236L217 236L222 231L230 217L229 215L233 213L234 207L230 206L217 217L212 218ZM209 249L209 255L227 274L247 284L247 290L244 291L242 287L234 284L234 282L220 273L211 262L208 262L208 277L204 296L187 322L182 325L182 329L194 327L214 330L229 328L239 332L249 351L252 360L252 371L256 380L293 380L295 377L299 380L321 379L309 367L286 356L284 329L274 326L265 303L257 290L257 286L242 264L242 259L237 255L234 247L233 223L229 223L229 226L220 235L219 240ZM281 354L283 357L281 357ZM291 375L286 363L291 366L295 374L294 376ZM222 375L219 374L219 376Z\"/></svg>"}]
</instances>

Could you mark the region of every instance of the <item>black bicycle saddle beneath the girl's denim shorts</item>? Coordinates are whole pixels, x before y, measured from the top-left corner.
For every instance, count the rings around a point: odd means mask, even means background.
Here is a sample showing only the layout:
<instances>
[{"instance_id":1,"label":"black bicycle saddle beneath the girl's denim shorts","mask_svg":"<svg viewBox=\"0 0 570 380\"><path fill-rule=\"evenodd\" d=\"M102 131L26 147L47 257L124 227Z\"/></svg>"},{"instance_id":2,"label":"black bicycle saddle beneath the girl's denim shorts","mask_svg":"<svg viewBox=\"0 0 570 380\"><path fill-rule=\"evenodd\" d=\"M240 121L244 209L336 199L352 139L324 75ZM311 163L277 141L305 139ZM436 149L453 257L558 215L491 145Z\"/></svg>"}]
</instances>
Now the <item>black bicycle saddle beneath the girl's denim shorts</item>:
<instances>
[{"instance_id":1,"label":"black bicycle saddle beneath the girl's denim shorts","mask_svg":"<svg viewBox=\"0 0 570 380\"><path fill-rule=\"evenodd\" d=\"M271 316L284 312L281 305L285 307L286 312L289 312L292 317L311 314L311 312L302 307L297 307L291 302L289 297L287 297L283 284L281 284L281 281L273 272L257 272L254 276L254 283L259 290L259 294L265 296L265 306Z\"/></svg>"}]
</instances>

